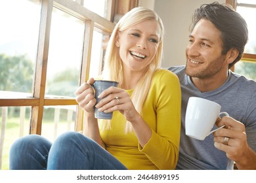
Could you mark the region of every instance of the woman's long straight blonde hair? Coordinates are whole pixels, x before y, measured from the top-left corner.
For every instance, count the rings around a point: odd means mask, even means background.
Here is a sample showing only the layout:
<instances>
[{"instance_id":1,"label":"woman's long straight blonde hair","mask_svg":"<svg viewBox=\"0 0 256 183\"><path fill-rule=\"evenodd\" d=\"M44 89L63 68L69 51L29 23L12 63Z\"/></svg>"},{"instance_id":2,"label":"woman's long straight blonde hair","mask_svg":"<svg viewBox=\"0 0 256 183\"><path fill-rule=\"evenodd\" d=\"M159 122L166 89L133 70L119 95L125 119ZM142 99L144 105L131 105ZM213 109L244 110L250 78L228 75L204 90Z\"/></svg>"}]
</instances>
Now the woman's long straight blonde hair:
<instances>
[{"instance_id":1,"label":"woman's long straight blonde hair","mask_svg":"<svg viewBox=\"0 0 256 183\"><path fill-rule=\"evenodd\" d=\"M142 78L139 80L137 86L134 88L133 94L131 95L131 99L133 101L133 105L135 105L136 110L140 113L142 110L142 105L146 100L146 93L148 93L150 89L150 84L152 80L152 76L156 71L160 68L161 65L161 56L163 52L163 22L161 18L154 12L145 7L136 7L127 12L120 20L117 22L114 31L110 37L110 41L108 42L108 46L106 48L106 55L104 58L104 69L102 71L102 77L107 80L116 80L119 82L119 86L121 86L123 82L123 70L122 70L122 61L119 56L119 48L116 46L116 36L117 31L124 31L129 27L138 24L140 22L144 22L145 20L156 20L160 27L160 40L158 50L156 52L156 56L152 60L152 62L146 68L146 71ZM127 129L131 131L131 125L127 123Z\"/></svg>"}]
</instances>

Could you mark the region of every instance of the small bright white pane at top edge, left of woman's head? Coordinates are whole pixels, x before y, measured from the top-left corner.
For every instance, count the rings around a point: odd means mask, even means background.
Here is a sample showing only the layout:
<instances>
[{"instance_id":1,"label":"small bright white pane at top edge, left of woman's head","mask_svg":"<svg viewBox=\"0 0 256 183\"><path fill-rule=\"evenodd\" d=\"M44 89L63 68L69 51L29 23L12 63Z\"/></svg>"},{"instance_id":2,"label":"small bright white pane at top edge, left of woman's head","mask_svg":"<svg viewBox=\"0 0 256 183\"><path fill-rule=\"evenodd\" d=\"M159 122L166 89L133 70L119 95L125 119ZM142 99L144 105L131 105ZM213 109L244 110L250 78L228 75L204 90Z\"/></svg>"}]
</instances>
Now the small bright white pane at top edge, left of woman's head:
<instances>
[{"instance_id":1,"label":"small bright white pane at top edge, left of woman's head","mask_svg":"<svg viewBox=\"0 0 256 183\"><path fill-rule=\"evenodd\" d=\"M84 0L83 6L96 14L106 18L105 12L105 1L106 0Z\"/></svg>"}]
</instances>

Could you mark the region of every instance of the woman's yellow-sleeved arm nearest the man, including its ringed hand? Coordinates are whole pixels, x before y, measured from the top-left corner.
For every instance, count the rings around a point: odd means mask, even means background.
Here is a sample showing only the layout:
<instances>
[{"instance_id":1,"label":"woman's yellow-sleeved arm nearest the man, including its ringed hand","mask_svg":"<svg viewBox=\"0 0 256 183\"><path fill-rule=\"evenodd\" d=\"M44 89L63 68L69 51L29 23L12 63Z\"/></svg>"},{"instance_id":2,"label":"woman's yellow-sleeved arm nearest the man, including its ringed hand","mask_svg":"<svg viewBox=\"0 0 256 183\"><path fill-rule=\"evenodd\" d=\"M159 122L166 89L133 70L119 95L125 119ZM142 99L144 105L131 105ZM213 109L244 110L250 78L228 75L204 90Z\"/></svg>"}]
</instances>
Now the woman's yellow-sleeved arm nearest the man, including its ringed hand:
<instances>
[{"instance_id":1,"label":"woman's yellow-sleeved arm nearest the man, including its ringed hand","mask_svg":"<svg viewBox=\"0 0 256 183\"><path fill-rule=\"evenodd\" d=\"M119 110L131 122L139 140L139 150L159 169L175 169L179 156L181 132L181 87L179 79L169 71L163 71L154 79L154 87L148 93L144 116L135 110L129 94L119 88L102 92L102 100L96 107L104 112ZM105 97L106 96L106 97ZM119 97L119 102L115 97ZM104 99L103 99L104 98ZM143 113L143 112L142 112ZM150 127L154 126L154 127Z\"/></svg>"}]
</instances>

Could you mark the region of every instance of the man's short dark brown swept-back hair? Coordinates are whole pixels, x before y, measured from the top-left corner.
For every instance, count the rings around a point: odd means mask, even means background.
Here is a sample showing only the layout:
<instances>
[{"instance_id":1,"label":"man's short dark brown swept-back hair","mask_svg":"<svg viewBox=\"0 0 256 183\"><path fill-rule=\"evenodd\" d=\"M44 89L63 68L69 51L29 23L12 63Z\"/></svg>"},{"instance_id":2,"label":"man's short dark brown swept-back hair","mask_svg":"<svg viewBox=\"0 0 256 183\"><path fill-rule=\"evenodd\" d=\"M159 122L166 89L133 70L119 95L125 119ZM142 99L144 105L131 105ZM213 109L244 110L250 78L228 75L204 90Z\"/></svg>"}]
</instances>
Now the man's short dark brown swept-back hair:
<instances>
[{"instance_id":1,"label":"man's short dark brown swept-back hair","mask_svg":"<svg viewBox=\"0 0 256 183\"><path fill-rule=\"evenodd\" d=\"M228 65L228 68L231 68L242 58L244 46L248 40L248 29L244 18L230 5L220 4L218 2L203 4L200 8L195 10L192 16L190 32L201 19L209 20L221 31L223 55L231 48L238 50L238 57Z\"/></svg>"}]
</instances>

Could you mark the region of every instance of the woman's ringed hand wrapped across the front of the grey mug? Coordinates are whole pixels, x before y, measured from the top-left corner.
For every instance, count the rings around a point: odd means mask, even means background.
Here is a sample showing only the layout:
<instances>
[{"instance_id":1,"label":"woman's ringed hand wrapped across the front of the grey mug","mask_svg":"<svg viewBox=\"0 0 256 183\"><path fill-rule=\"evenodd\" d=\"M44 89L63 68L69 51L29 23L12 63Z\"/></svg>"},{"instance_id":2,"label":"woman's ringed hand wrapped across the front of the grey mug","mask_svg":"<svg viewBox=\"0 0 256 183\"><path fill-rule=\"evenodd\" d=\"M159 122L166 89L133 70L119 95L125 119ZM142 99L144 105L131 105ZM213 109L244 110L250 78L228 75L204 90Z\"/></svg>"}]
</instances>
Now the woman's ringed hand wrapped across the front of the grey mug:
<instances>
[{"instance_id":1,"label":"woman's ringed hand wrapped across the front of the grey mug","mask_svg":"<svg viewBox=\"0 0 256 183\"><path fill-rule=\"evenodd\" d=\"M125 90L112 86L104 90L98 97L101 99L95 106L98 110L106 113L119 110L127 121L137 120L139 113L135 109L129 93Z\"/></svg>"}]
</instances>

